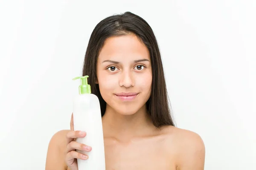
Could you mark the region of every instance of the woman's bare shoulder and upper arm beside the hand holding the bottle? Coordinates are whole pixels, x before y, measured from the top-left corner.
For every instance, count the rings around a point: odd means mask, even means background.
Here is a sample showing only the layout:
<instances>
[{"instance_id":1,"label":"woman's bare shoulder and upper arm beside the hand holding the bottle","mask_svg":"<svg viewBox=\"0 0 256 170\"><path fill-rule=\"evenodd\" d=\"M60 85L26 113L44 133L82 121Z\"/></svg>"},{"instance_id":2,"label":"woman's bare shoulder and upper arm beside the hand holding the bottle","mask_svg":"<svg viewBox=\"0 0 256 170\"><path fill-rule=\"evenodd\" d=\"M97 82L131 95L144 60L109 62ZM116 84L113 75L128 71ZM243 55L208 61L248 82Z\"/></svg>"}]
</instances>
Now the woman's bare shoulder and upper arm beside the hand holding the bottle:
<instances>
[{"instance_id":1,"label":"woman's bare shoulder and upper arm beside the hand holding the bottle","mask_svg":"<svg viewBox=\"0 0 256 170\"><path fill-rule=\"evenodd\" d=\"M70 130L60 130L50 139L46 157L46 170L67 169L64 158L65 147L67 145L66 135L69 131Z\"/></svg>"}]
</instances>

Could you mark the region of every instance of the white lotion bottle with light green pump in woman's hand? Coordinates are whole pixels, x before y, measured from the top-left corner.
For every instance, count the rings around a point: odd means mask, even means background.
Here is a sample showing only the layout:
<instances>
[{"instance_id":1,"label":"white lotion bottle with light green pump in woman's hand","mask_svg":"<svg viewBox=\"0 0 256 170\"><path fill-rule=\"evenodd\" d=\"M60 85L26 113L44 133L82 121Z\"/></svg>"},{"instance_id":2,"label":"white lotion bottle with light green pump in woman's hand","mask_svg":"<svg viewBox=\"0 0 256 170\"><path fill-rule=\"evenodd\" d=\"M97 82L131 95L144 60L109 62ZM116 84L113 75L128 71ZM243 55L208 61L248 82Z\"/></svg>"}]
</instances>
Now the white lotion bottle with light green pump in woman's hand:
<instances>
[{"instance_id":1,"label":"white lotion bottle with light green pump in woman's hand","mask_svg":"<svg viewBox=\"0 0 256 170\"><path fill-rule=\"evenodd\" d=\"M77 138L76 142L92 147L90 152L76 150L88 155L87 160L77 159L78 170L105 170L105 150L102 129L102 116L99 99L91 94L87 78L89 76L75 77L81 79L79 94L73 100L74 130L85 131L84 138Z\"/></svg>"}]
</instances>

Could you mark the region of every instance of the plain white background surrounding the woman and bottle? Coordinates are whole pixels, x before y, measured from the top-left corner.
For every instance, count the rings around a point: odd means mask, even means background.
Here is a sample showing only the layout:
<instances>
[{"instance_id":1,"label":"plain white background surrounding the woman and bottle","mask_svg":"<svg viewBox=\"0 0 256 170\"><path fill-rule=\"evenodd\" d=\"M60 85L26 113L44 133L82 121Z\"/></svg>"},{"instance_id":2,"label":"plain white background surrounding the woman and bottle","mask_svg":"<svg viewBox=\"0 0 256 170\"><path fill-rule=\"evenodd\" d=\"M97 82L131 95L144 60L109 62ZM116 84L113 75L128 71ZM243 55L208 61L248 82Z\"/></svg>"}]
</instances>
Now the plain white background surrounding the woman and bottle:
<instances>
[{"instance_id":1,"label":"plain white background surrounding the woman and bottle","mask_svg":"<svg viewBox=\"0 0 256 170\"><path fill-rule=\"evenodd\" d=\"M0 2L0 168L44 170L68 129L93 28L131 11L160 45L177 127L206 147L205 170L256 170L256 1ZM170 160L172 161L172 160Z\"/></svg>"}]
</instances>

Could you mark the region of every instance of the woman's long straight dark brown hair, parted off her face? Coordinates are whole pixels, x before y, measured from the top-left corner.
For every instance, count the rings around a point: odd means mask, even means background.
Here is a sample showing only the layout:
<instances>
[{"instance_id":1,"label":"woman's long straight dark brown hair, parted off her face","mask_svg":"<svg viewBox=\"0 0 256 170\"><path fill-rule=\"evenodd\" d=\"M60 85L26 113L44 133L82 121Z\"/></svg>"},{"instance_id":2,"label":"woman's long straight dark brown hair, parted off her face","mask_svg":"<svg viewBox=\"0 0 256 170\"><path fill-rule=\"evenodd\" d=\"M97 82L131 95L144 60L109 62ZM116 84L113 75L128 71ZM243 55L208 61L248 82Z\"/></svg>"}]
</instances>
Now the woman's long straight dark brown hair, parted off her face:
<instances>
[{"instance_id":1,"label":"woman's long straight dark brown hair, parted off her face","mask_svg":"<svg viewBox=\"0 0 256 170\"><path fill-rule=\"evenodd\" d=\"M108 37L135 34L147 46L152 67L151 96L146 102L148 114L151 116L155 127L163 125L175 126L171 105L166 89L163 64L157 40L148 23L141 17L131 12L117 14L100 21L90 36L84 57L83 76L88 75L91 92L99 98L101 114L105 114L106 102L102 98L99 85L96 84L96 64L99 52Z\"/></svg>"}]
</instances>

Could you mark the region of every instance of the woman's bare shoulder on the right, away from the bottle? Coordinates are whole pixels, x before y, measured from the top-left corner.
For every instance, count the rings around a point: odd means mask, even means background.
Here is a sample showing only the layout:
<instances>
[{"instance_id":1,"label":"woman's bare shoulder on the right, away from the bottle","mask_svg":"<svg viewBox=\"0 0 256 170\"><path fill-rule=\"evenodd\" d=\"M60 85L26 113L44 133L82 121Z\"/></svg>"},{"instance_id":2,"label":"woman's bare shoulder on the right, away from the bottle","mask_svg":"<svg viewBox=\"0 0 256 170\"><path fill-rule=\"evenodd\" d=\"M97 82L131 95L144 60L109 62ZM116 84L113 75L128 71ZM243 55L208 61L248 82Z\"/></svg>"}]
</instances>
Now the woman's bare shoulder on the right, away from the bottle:
<instances>
[{"instance_id":1,"label":"woman's bare shoulder on the right, away from the bottle","mask_svg":"<svg viewBox=\"0 0 256 170\"><path fill-rule=\"evenodd\" d=\"M173 126L165 127L164 131L171 147L176 148L177 170L204 170L205 145L198 133Z\"/></svg>"}]
</instances>

